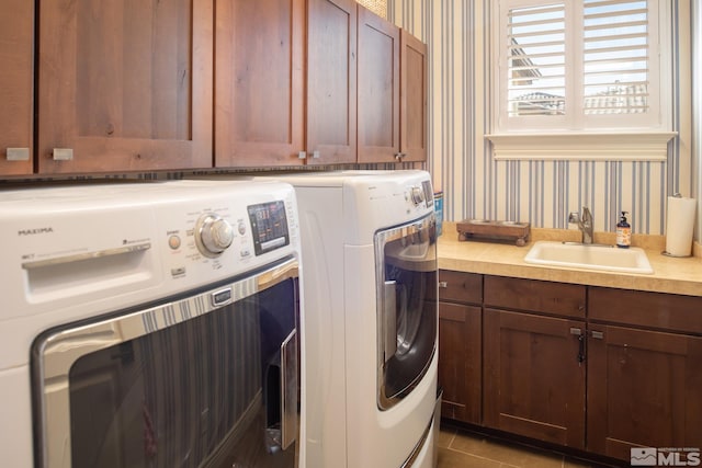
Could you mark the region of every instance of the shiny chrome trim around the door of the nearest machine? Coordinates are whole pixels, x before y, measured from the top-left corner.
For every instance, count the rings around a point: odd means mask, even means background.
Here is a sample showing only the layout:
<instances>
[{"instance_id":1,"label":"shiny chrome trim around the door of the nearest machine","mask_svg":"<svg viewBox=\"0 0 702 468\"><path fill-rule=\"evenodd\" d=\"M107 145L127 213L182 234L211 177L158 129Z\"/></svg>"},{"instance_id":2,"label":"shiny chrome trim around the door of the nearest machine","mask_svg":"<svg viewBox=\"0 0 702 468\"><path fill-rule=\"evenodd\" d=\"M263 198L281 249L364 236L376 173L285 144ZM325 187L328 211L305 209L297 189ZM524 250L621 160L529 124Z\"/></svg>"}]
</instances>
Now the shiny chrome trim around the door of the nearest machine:
<instances>
[{"instance_id":1,"label":"shiny chrome trim around the door of the nearest machine","mask_svg":"<svg viewBox=\"0 0 702 468\"><path fill-rule=\"evenodd\" d=\"M41 386L36 401L41 415L41 431L36 434L41 460L35 461L36 466L71 466L69 373L80 357L211 313L298 275L298 261L287 258L260 272L183 299L41 335L34 356Z\"/></svg>"}]
</instances>

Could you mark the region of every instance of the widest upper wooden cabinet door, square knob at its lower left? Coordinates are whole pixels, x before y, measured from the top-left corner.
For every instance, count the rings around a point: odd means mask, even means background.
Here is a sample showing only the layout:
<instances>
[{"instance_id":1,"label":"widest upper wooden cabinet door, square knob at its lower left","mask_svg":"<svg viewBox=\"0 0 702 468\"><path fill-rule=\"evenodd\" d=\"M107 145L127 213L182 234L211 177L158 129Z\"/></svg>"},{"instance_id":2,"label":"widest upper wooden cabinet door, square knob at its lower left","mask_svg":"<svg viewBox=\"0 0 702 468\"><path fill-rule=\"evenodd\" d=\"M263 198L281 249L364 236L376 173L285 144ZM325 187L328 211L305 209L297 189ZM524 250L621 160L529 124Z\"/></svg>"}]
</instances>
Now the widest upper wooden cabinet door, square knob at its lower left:
<instances>
[{"instance_id":1,"label":"widest upper wooden cabinet door, square knob at its lower left","mask_svg":"<svg viewBox=\"0 0 702 468\"><path fill-rule=\"evenodd\" d=\"M39 5L39 172L212 167L213 0Z\"/></svg>"}]
</instances>

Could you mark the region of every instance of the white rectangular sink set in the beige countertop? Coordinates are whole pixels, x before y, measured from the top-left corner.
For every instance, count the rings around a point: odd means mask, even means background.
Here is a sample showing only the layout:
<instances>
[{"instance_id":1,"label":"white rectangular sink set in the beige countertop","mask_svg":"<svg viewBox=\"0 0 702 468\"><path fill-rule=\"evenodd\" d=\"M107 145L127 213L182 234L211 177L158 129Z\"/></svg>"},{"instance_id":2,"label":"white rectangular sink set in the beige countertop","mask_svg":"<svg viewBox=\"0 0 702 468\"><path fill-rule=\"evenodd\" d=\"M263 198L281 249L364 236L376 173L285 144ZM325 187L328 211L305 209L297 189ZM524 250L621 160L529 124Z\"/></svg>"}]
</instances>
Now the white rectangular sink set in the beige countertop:
<instances>
[{"instance_id":1,"label":"white rectangular sink set in the beige countertop","mask_svg":"<svg viewBox=\"0 0 702 468\"><path fill-rule=\"evenodd\" d=\"M539 241L529 250L524 261L540 265L607 272L654 272L646 252L636 247L618 249L611 246Z\"/></svg>"}]
</instances>

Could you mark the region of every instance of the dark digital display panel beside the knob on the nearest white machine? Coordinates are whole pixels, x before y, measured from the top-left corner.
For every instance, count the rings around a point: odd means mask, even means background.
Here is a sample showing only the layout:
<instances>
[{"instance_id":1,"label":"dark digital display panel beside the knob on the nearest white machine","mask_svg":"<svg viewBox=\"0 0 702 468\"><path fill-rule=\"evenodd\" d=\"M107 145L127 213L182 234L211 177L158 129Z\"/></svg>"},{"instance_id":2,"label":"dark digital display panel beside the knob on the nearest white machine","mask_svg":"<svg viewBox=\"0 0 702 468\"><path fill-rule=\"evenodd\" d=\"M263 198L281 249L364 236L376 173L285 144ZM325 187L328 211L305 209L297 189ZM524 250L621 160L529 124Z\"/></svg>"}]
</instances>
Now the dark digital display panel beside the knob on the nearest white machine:
<instances>
[{"instance_id":1,"label":"dark digital display panel beside the knob on the nearest white machine","mask_svg":"<svg viewBox=\"0 0 702 468\"><path fill-rule=\"evenodd\" d=\"M253 248L257 255L290 243L285 203L279 199L276 202L250 205L247 209L251 221L251 230L253 231Z\"/></svg>"}]
</instances>

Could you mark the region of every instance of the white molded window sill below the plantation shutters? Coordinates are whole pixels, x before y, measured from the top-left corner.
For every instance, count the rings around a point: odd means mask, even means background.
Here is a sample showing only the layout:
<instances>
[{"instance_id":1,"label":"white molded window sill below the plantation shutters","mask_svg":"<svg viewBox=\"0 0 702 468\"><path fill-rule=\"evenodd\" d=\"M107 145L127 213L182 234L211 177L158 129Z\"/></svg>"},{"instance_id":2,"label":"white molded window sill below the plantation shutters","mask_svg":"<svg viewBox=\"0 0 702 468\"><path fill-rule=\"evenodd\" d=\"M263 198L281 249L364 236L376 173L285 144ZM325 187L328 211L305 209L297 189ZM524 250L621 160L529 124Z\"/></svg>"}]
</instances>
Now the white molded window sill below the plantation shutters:
<instances>
[{"instance_id":1,"label":"white molded window sill below the plantation shutters","mask_svg":"<svg viewBox=\"0 0 702 468\"><path fill-rule=\"evenodd\" d=\"M677 132L486 135L496 160L666 161Z\"/></svg>"}]
</instances>

